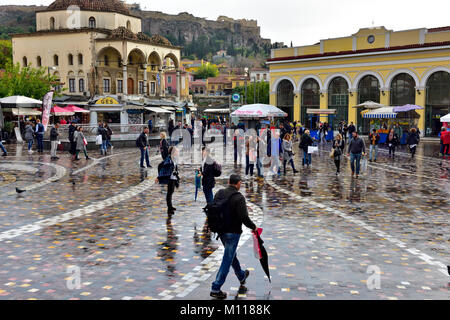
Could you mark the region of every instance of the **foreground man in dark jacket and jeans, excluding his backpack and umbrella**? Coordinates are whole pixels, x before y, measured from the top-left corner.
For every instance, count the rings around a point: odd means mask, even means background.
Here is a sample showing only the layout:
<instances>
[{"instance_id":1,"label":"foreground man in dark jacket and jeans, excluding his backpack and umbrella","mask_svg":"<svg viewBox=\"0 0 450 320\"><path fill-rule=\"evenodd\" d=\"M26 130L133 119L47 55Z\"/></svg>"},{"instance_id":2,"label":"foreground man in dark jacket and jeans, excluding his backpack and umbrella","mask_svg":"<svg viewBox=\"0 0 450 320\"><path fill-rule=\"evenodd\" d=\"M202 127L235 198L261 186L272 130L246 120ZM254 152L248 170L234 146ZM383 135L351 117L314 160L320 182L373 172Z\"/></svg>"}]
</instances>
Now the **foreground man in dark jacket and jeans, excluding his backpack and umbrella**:
<instances>
[{"instance_id":1,"label":"foreground man in dark jacket and jeans, excluding his backpack and umbrella","mask_svg":"<svg viewBox=\"0 0 450 320\"><path fill-rule=\"evenodd\" d=\"M248 270L243 271L236 255L239 239L242 234L242 224L247 228L257 231L256 225L250 220L247 211L247 204L245 197L239 193L241 188L241 177L238 175L232 175L229 180L229 186L226 189L220 190L215 197L215 201L221 199L228 200L228 223L224 227L224 231L219 234L220 241L225 247L225 252L220 265L219 272L217 273L216 281L212 284L211 297L217 299L226 299L227 293L222 292L221 288L227 279L230 267L233 267L241 285L244 285L250 272Z\"/></svg>"}]
</instances>

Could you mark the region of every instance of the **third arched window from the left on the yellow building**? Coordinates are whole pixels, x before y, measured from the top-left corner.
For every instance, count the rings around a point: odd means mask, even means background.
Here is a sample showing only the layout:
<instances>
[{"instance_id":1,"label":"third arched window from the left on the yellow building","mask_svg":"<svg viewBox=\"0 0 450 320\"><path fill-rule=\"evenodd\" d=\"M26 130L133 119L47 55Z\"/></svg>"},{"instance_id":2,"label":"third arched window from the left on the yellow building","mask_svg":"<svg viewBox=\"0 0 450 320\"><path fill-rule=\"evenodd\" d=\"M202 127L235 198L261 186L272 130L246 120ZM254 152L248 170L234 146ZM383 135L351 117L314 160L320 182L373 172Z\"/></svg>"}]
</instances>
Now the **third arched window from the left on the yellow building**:
<instances>
[{"instance_id":1,"label":"third arched window from the left on the yellow building","mask_svg":"<svg viewBox=\"0 0 450 320\"><path fill-rule=\"evenodd\" d=\"M348 83L342 77L334 78L328 88L328 109L336 109L333 126L337 129L340 121L348 121Z\"/></svg>"}]
</instances>

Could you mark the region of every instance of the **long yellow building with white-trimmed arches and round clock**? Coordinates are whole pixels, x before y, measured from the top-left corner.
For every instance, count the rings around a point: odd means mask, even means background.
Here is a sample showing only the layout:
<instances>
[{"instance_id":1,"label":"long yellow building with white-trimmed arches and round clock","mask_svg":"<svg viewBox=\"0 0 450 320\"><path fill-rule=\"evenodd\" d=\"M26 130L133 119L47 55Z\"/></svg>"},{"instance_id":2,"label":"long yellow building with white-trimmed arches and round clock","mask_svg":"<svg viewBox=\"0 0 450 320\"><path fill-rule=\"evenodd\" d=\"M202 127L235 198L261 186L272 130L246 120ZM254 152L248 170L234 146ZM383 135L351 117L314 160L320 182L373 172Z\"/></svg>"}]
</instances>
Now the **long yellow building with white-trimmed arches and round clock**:
<instances>
[{"instance_id":1,"label":"long yellow building with white-trimmed arches and round clock","mask_svg":"<svg viewBox=\"0 0 450 320\"><path fill-rule=\"evenodd\" d=\"M336 109L335 126L354 122L367 133L369 120L354 106L371 100L424 107L416 125L436 136L440 117L450 113L450 27L360 29L311 46L273 49L267 64L270 103L306 125L307 109Z\"/></svg>"}]
</instances>

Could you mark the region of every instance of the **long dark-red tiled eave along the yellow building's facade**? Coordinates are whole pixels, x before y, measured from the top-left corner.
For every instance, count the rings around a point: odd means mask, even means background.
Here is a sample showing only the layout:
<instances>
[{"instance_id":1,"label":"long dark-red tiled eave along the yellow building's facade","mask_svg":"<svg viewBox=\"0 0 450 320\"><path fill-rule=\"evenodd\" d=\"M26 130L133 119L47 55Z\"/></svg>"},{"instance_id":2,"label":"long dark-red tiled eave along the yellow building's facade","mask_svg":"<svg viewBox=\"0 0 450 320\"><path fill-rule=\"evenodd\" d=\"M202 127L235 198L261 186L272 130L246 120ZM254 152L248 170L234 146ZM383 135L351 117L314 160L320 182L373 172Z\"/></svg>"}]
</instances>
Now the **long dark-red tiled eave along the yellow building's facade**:
<instances>
[{"instance_id":1,"label":"long dark-red tiled eave along the yellow building's facade","mask_svg":"<svg viewBox=\"0 0 450 320\"><path fill-rule=\"evenodd\" d=\"M326 53L321 53L321 54L309 54L309 55L304 55L304 56L274 58L274 59L269 59L267 61L268 62L276 62L276 61L285 61L285 60L301 60L301 59L311 59L311 58L320 58L320 57L343 56L343 55L348 55L348 54L396 51L396 50L404 50L404 49L430 48L430 47L439 47L439 46L448 46L448 45L450 45L450 41L424 43L424 44L411 44L411 45L406 45L406 46L397 46L397 47L390 47L390 48L374 48L374 49L364 49L364 50L356 50L356 51L348 50L348 51L339 51L339 52L326 52Z\"/></svg>"}]
</instances>

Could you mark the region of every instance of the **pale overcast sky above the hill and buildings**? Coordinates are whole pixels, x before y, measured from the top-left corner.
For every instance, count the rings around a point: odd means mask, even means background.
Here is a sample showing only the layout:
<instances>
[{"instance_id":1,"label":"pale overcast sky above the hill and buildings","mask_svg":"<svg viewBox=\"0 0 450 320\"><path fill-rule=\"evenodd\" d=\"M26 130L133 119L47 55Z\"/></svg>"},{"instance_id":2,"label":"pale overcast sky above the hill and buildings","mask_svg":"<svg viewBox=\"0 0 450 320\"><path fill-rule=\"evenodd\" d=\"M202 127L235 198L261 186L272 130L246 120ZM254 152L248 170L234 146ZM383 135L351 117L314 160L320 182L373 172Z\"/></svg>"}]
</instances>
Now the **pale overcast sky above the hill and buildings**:
<instances>
[{"instance_id":1,"label":"pale overcast sky above the hill and buildings","mask_svg":"<svg viewBox=\"0 0 450 320\"><path fill-rule=\"evenodd\" d=\"M21 0L22 5L49 5L52 0ZM145 10L169 14L189 12L216 20L220 15L256 19L261 36L295 46L348 36L359 28L390 30L450 26L450 0L171 0L144 1ZM0 4L17 4L0 0Z\"/></svg>"}]
</instances>

